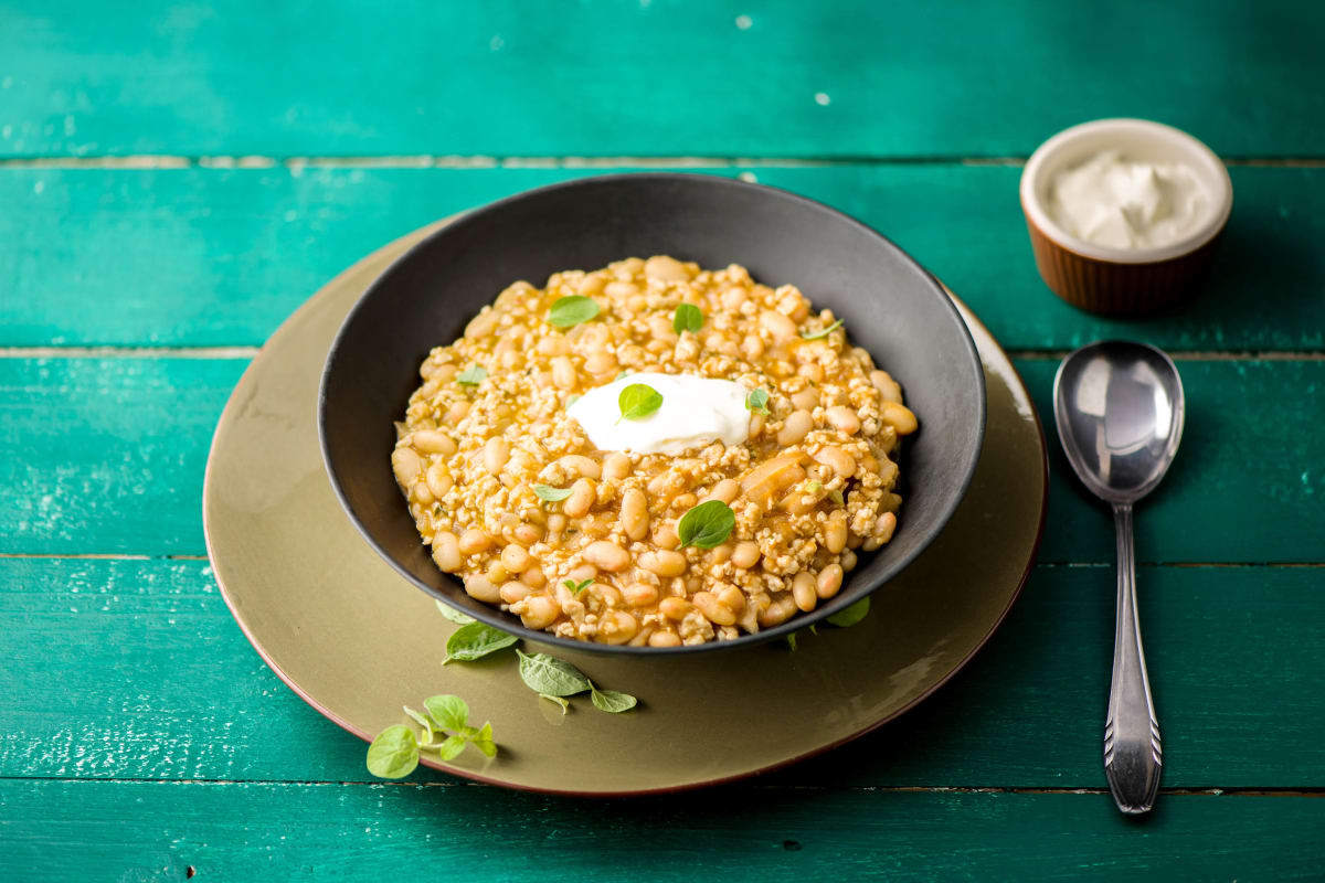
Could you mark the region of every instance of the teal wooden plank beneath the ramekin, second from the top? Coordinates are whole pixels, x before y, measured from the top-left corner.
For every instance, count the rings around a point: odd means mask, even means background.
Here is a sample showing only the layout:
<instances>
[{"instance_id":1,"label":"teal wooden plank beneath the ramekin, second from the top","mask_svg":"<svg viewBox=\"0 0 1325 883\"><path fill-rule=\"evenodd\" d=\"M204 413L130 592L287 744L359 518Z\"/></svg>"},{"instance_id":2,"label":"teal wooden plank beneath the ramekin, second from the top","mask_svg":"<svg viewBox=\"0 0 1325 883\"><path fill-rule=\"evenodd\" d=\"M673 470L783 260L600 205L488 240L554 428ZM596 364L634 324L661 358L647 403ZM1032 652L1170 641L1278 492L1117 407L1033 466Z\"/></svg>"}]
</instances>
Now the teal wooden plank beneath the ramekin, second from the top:
<instances>
[{"instance_id":1,"label":"teal wooden plank beneath the ramekin, second from the top","mask_svg":"<svg viewBox=\"0 0 1325 883\"><path fill-rule=\"evenodd\" d=\"M714 171L714 169L706 169ZM735 168L716 169L725 175ZM894 238L1011 349L1106 336L1173 349L1325 349L1325 168L1232 169L1210 289L1150 322L1089 316L1031 259L1020 169L741 169ZM584 169L0 168L0 346L256 346L330 277L439 217Z\"/></svg>"}]
</instances>

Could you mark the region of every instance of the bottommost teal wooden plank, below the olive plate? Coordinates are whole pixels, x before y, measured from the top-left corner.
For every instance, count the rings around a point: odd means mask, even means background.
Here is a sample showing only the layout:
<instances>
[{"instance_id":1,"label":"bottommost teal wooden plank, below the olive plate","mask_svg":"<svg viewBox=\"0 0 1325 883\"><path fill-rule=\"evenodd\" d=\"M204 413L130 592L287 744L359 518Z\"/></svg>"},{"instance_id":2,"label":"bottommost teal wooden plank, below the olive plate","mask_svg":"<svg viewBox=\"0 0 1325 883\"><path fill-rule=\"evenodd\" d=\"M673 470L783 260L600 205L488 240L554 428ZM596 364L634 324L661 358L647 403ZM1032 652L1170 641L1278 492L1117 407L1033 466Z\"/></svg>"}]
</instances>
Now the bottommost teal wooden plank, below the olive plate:
<instances>
[{"instance_id":1,"label":"bottommost teal wooden plank, below the olive plate","mask_svg":"<svg viewBox=\"0 0 1325 883\"><path fill-rule=\"evenodd\" d=\"M584 801L489 788L0 782L16 879L1318 880L1325 800L725 789ZM191 874L192 872L192 874Z\"/></svg>"}]
</instances>

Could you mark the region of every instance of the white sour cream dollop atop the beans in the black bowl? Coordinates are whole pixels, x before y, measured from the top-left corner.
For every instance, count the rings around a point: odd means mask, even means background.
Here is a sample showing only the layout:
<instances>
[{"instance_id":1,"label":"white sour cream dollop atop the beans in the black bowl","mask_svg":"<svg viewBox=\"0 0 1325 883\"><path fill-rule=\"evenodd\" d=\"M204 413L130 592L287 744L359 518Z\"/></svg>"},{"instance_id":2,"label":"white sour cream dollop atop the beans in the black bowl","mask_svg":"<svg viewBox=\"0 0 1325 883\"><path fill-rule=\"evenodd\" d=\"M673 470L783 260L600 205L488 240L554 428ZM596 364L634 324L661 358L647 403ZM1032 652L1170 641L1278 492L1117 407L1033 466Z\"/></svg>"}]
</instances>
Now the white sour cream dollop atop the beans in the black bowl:
<instances>
[{"instance_id":1,"label":"white sour cream dollop atop the beans in the black bowl","mask_svg":"<svg viewBox=\"0 0 1325 883\"><path fill-rule=\"evenodd\" d=\"M631 384L662 396L647 417L621 420L617 398ZM567 414L579 421L599 450L682 454L716 441L739 445L750 436L749 389L730 380L643 372L627 375L580 396Z\"/></svg>"}]
</instances>

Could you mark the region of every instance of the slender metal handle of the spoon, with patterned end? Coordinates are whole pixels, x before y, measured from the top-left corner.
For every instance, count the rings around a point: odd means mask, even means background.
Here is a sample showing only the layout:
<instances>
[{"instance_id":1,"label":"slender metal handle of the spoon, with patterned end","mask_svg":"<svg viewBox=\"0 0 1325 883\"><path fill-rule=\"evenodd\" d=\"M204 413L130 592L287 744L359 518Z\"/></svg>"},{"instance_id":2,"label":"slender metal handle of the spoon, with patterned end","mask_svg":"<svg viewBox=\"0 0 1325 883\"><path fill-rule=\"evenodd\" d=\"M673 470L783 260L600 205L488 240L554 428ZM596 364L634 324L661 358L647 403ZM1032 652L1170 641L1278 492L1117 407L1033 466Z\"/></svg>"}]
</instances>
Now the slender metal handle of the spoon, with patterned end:
<instances>
[{"instance_id":1,"label":"slender metal handle of the spoon, with patterned end","mask_svg":"<svg viewBox=\"0 0 1325 883\"><path fill-rule=\"evenodd\" d=\"M1130 504L1114 504L1113 524L1118 532L1118 622L1113 635L1109 720L1104 727L1104 774L1118 809L1136 814L1154 806L1163 752L1137 621Z\"/></svg>"}]
</instances>

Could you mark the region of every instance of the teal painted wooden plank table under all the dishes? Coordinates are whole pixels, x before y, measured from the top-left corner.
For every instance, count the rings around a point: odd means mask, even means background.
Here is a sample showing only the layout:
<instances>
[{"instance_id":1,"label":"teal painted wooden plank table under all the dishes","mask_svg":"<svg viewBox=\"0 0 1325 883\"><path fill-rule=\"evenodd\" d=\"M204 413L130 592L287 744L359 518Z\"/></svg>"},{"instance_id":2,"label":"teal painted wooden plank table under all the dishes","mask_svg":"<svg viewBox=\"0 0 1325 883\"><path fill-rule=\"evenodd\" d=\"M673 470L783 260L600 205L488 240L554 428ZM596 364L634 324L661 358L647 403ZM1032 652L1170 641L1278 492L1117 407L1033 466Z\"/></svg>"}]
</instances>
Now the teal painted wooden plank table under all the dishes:
<instances>
[{"instance_id":1,"label":"teal painted wooden plank table under all the dishes","mask_svg":"<svg viewBox=\"0 0 1325 883\"><path fill-rule=\"evenodd\" d=\"M0 879L1325 878L1325 5L0 5ZM1191 306L1056 301L1016 199L1085 119L1169 122L1235 207ZM211 430L323 281L437 217L623 168L790 188L892 236L1012 352L1174 352L1138 519L1163 793L1100 768L1113 535L1055 450L1034 576L974 663L847 748L594 802L364 747L262 665L204 556Z\"/></svg>"}]
</instances>

